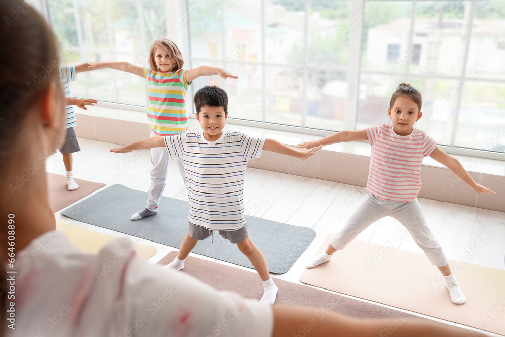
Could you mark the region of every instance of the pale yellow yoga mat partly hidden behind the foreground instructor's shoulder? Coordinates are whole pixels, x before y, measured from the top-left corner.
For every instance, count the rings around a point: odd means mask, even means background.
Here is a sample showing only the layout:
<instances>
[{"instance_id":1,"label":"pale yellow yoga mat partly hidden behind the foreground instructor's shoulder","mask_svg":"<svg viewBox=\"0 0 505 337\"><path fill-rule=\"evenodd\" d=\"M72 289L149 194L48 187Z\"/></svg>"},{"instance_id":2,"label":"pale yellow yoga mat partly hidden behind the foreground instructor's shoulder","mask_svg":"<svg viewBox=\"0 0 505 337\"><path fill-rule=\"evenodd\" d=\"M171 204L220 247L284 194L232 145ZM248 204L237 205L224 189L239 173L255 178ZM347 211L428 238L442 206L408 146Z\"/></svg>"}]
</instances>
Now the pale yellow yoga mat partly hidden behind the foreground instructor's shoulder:
<instances>
[{"instance_id":1,"label":"pale yellow yoga mat partly hidden behind the foreground instructor's shoulder","mask_svg":"<svg viewBox=\"0 0 505 337\"><path fill-rule=\"evenodd\" d=\"M60 221L56 221L56 229L63 232L69 238L72 245L88 254L97 254L108 242L118 239L111 235L97 233ZM149 245L135 244L135 250L144 260L156 254L156 248Z\"/></svg>"}]
</instances>

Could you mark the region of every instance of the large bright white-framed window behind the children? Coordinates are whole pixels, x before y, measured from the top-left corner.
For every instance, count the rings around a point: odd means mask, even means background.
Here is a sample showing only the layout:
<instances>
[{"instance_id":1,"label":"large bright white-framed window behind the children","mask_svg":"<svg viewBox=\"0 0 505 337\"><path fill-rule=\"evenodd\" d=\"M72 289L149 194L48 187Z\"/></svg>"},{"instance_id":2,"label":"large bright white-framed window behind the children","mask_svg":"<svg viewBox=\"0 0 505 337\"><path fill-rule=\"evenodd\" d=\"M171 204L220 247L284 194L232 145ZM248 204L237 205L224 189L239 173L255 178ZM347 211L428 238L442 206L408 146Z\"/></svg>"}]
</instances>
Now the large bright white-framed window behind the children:
<instances>
[{"instance_id":1,"label":"large bright white-framed window behind the children","mask_svg":"<svg viewBox=\"0 0 505 337\"><path fill-rule=\"evenodd\" d=\"M147 66L150 43L166 36L186 68L239 76L200 78L189 92L223 87L237 123L320 135L362 129L389 120L391 94L406 82L423 96L417 127L440 145L505 152L501 0L51 0L47 8L66 64ZM112 70L83 74L71 89L139 110L147 101L143 79Z\"/></svg>"}]
</instances>

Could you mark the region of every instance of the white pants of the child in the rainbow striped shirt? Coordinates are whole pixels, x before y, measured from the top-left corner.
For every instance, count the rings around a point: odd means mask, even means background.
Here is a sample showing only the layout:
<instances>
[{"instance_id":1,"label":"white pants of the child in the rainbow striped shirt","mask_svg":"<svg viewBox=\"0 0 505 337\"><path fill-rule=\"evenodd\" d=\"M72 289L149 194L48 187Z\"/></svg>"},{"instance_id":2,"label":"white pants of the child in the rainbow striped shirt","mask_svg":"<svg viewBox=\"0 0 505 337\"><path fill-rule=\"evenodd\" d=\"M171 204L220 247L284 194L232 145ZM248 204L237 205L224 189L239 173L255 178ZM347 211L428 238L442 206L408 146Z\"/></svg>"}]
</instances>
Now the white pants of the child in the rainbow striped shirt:
<instances>
[{"instance_id":1,"label":"white pants of the child in the rainbow striped shirt","mask_svg":"<svg viewBox=\"0 0 505 337\"><path fill-rule=\"evenodd\" d=\"M151 132L151 137L156 136L156 134ZM151 163L153 164L153 169L151 169L151 187L148 192L147 199L147 209L150 211L155 211L160 203L161 197L163 197L163 191L167 184L167 174L170 156L166 147L163 148L153 148L151 149ZM184 177L184 167L182 165L182 159L180 157L172 157L179 168L182 179L184 180L184 185L186 185L186 178Z\"/></svg>"}]
</instances>

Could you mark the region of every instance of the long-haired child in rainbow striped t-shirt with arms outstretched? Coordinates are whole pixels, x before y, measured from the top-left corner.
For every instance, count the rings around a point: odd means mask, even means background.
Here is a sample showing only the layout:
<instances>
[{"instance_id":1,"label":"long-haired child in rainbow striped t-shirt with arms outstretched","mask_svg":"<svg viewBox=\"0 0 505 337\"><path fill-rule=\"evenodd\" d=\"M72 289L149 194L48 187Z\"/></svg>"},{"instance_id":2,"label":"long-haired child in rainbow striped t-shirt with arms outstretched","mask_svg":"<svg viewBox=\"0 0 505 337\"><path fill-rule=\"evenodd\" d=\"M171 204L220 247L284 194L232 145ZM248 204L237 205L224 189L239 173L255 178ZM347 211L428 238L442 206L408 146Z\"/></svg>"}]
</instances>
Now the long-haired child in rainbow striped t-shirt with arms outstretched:
<instances>
[{"instance_id":1,"label":"long-haired child in rainbow striped t-shirt with arms outstretched","mask_svg":"<svg viewBox=\"0 0 505 337\"><path fill-rule=\"evenodd\" d=\"M184 60L177 45L167 38L159 38L151 45L149 67L142 68L129 62L90 63L91 69L108 67L132 73L147 79L149 119L151 137L171 136L184 133L188 125L186 109L186 90L188 85L200 76L219 75L238 78L220 68L200 66L194 69L182 69ZM172 157L184 179L182 160ZM131 216L132 220L155 215L163 196L167 180L169 155L166 149L151 149L151 187L148 192L147 206Z\"/></svg>"}]
</instances>

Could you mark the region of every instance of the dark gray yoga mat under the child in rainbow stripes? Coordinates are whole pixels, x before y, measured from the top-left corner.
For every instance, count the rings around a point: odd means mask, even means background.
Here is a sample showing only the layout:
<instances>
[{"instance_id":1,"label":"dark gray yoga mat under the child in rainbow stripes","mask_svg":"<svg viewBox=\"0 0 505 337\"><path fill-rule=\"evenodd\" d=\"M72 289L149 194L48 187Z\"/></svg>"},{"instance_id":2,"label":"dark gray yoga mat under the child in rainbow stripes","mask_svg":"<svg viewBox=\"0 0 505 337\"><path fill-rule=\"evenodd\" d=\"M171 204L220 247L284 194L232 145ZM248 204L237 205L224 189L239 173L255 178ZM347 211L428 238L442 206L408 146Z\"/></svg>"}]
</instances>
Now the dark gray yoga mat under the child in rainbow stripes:
<instances>
[{"instance_id":1,"label":"dark gray yoga mat under the child in rainbow stripes","mask_svg":"<svg viewBox=\"0 0 505 337\"><path fill-rule=\"evenodd\" d=\"M163 197L157 215L131 221L130 216L144 208L146 200L146 192L116 184L61 214L160 244L180 247L188 230L188 203ZM287 272L316 237L316 232L311 228L247 215L245 219L249 236L265 256L268 270L274 274ZM192 252L252 268L237 245L223 239L217 231L214 231L213 242L211 237L202 240Z\"/></svg>"}]
</instances>

